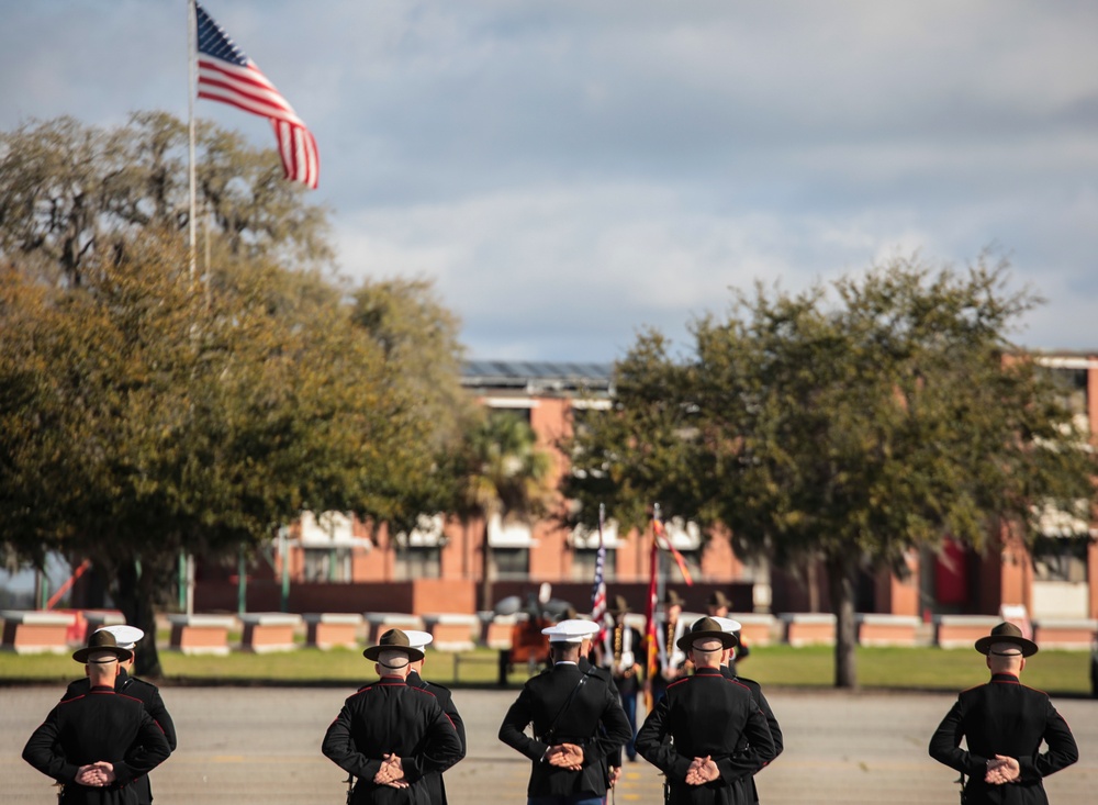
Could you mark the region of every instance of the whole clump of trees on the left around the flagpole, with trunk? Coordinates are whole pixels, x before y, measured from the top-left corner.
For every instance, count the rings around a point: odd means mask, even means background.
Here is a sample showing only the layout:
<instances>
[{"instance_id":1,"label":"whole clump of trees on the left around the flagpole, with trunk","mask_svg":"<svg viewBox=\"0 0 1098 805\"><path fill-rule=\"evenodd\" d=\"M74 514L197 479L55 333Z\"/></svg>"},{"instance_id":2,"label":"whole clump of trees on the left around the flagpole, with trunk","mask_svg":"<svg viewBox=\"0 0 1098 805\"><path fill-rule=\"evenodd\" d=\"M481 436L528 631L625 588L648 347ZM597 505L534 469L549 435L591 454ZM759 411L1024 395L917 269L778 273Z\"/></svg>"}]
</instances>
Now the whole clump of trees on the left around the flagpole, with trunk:
<instances>
[{"instance_id":1,"label":"whole clump of trees on the left around the flagpole, with trunk","mask_svg":"<svg viewBox=\"0 0 1098 805\"><path fill-rule=\"evenodd\" d=\"M192 277L179 136L147 114L0 141L0 541L40 566L91 558L149 635L143 672L180 550L235 556L305 510L437 511L452 484L436 451L456 439L440 412L460 394L457 325L429 287L356 295L322 275L323 209L213 127L200 187L217 225ZM385 314L363 316L379 295Z\"/></svg>"}]
</instances>

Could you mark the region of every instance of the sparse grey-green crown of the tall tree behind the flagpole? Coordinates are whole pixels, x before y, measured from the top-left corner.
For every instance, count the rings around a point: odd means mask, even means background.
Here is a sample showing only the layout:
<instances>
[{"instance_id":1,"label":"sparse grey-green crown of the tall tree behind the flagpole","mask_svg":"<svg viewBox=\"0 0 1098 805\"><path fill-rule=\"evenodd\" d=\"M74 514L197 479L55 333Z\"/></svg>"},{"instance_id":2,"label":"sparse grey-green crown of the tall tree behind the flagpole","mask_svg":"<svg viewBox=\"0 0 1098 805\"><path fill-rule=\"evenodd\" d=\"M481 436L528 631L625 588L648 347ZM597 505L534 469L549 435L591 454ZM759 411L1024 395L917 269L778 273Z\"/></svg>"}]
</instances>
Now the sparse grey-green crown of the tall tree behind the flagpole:
<instances>
[{"instance_id":1,"label":"sparse grey-green crown of the tall tree behind the flagpole","mask_svg":"<svg viewBox=\"0 0 1098 805\"><path fill-rule=\"evenodd\" d=\"M184 123L138 112L114 128L71 118L0 133L0 256L79 286L97 250L135 231L190 222ZM321 266L332 259L324 208L282 178L278 155L200 122L198 215L240 257Z\"/></svg>"}]
</instances>

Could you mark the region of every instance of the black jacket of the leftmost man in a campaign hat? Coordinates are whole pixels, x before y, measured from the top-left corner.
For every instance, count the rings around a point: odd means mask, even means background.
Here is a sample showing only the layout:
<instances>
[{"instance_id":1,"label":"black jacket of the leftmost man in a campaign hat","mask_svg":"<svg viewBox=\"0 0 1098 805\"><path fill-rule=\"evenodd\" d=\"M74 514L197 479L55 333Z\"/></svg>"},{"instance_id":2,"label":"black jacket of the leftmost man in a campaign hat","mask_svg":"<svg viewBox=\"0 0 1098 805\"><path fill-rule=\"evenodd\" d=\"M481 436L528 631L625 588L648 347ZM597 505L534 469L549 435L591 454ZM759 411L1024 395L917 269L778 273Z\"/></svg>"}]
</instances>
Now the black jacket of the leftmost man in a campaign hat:
<instances>
[{"instance_id":1,"label":"black jacket of the leftmost man in a campaign hat","mask_svg":"<svg viewBox=\"0 0 1098 805\"><path fill-rule=\"evenodd\" d=\"M137 802L131 783L170 753L164 733L141 702L102 686L49 711L26 741L23 760L65 783L64 805L121 805ZM116 781L105 787L77 785L79 767L100 760L114 765Z\"/></svg>"}]
</instances>

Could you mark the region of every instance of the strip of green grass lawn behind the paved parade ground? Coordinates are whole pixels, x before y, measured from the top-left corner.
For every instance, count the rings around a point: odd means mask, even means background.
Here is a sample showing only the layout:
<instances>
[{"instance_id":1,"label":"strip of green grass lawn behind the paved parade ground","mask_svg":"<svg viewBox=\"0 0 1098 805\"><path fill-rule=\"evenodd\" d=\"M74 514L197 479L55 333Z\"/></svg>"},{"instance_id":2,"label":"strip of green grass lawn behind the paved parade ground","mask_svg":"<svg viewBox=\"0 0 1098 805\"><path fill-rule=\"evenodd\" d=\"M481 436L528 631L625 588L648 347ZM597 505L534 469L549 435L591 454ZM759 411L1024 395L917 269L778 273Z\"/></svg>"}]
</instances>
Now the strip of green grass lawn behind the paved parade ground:
<instances>
[{"instance_id":1,"label":"strip of green grass lawn behind the paved parade ground","mask_svg":"<svg viewBox=\"0 0 1098 805\"><path fill-rule=\"evenodd\" d=\"M455 655L427 651L424 675L446 685L491 685L496 681L496 652L477 649ZM277 683L346 684L373 679L373 663L350 649L301 648L296 651L254 655L234 651L228 657L186 657L161 651L167 683ZM1086 651L1042 651L1031 658L1022 679L1050 693L1088 695L1090 655ZM752 648L740 663L744 677L768 687L830 687L834 681L833 652L829 647ZM457 672L457 673L456 673ZM59 684L79 677L82 669L68 655L18 656L0 653L0 684ZM515 685L526 679L526 666L508 678ZM918 689L959 691L987 680L984 658L971 649L859 648L859 682L864 689Z\"/></svg>"}]
</instances>

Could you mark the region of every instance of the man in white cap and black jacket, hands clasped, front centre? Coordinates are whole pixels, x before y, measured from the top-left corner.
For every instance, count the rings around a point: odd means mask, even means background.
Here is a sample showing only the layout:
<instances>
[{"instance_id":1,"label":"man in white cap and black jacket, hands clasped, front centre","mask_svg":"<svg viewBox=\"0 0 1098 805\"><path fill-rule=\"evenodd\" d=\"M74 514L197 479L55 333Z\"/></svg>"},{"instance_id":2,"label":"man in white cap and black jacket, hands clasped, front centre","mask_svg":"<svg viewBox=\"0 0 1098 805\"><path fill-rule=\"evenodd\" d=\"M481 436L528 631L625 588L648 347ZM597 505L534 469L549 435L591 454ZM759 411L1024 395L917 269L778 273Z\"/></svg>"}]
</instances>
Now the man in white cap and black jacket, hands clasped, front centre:
<instances>
[{"instance_id":1,"label":"man in white cap and black jacket, hands clasped, front centre","mask_svg":"<svg viewBox=\"0 0 1098 805\"><path fill-rule=\"evenodd\" d=\"M583 634L561 624L544 634L553 667L523 686L500 740L530 759L527 805L598 805L608 785L606 758L629 739L629 722L608 680L580 670Z\"/></svg>"}]
</instances>

